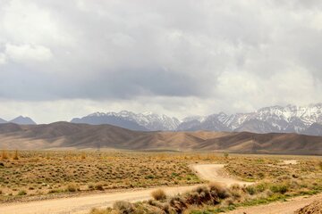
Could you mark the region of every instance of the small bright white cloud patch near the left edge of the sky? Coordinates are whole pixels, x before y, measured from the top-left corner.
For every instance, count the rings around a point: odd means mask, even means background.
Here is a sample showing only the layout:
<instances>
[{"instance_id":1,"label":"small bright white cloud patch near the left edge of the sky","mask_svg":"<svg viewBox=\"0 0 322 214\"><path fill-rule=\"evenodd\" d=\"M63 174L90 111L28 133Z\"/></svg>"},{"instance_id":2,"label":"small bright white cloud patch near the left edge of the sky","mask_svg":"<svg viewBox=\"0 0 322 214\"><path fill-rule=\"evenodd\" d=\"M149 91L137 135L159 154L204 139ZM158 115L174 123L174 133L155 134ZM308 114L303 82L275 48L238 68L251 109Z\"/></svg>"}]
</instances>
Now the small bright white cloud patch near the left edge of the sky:
<instances>
[{"instance_id":1,"label":"small bright white cloud patch near the left edge of the sky","mask_svg":"<svg viewBox=\"0 0 322 214\"><path fill-rule=\"evenodd\" d=\"M47 62L53 53L42 45L5 45L5 53L13 62L32 63Z\"/></svg>"}]
</instances>

